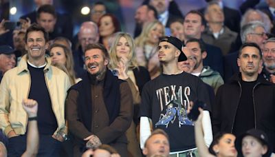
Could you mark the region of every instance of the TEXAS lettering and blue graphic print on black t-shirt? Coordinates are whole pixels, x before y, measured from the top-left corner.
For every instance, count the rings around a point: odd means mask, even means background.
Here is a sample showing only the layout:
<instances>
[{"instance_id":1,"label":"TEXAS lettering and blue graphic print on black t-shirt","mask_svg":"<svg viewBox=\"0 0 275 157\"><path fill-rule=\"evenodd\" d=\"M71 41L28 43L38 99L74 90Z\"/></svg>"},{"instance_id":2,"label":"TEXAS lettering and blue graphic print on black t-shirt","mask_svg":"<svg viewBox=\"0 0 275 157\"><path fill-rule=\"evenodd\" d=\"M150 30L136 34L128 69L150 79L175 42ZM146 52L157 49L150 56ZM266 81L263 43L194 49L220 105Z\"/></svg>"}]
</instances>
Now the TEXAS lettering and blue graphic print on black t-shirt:
<instances>
[{"instance_id":1,"label":"TEXAS lettering and blue graphic print on black t-shirt","mask_svg":"<svg viewBox=\"0 0 275 157\"><path fill-rule=\"evenodd\" d=\"M178 119L179 127L181 127L181 125L194 125L187 117L187 113L190 110L188 98L190 95L190 87L170 85L156 90L156 94L161 113L159 121L155 123L155 127L164 125L167 128L169 124L175 122L176 118Z\"/></svg>"}]
</instances>

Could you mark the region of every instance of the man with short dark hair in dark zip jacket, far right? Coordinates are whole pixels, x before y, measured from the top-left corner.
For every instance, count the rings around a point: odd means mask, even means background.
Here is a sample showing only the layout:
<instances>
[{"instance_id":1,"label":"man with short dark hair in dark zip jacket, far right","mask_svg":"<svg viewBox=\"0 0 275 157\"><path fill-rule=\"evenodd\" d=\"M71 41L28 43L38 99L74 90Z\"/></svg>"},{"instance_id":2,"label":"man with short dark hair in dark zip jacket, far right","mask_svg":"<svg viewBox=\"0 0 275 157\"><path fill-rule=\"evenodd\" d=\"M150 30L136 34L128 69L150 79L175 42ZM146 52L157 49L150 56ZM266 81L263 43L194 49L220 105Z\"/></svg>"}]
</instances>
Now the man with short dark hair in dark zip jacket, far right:
<instances>
[{"instance_id":1,"label":"man with short dark hair in dark zip jacket, far right","mask_svg":"<svg viewBox=\"0 0 275 157\"><path fill-rule=\"evenodd\" d=\"M217 91L212 108L213 132L239 136L248 129L261 129L275 146L275 86L259 76L261 48L256 43L244 43L237 63L241 73Z\"/></svg>"}]
</instances>

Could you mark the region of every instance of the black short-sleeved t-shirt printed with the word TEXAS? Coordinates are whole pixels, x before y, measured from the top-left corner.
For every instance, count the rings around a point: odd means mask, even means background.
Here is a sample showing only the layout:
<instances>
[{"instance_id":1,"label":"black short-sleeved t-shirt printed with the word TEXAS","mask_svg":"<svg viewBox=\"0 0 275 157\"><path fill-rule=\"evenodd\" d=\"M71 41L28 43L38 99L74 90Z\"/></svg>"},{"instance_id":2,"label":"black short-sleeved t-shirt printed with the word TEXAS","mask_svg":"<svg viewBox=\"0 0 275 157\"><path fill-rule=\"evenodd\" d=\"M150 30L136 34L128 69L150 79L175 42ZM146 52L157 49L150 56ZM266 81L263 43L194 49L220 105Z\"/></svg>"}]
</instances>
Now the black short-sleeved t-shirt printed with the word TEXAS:
<instances>
[{"instance_id":1,"label":"black short-sleeved t-shirt printed with the word TEXAS","mask_svg":"<svg viewBox=\"0 0 275 157\"><path fill-rule=\"evenodd\" d=\"M208 90L197 76L186 72L162 74L144 85L140 116L151 118L153 129L164 129L170 151L194 148L194 124L186 112L190 101L197 100L207 103L205 109L210 111Z\"/></svg>"}]
</instances>

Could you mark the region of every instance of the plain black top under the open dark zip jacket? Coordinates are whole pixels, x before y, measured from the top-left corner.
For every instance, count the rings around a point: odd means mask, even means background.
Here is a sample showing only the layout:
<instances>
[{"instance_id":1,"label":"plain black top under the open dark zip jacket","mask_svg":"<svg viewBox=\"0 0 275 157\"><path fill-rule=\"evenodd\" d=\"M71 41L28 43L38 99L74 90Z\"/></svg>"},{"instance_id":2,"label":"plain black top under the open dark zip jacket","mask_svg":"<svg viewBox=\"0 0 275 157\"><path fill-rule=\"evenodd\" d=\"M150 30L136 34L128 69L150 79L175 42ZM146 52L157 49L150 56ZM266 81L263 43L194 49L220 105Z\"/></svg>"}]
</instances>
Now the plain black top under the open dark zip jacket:
<instances>
[{"instance_id":1,"label":"plain black top under the open dark zip jacket","mask_svg":"<svg viewBox=\"0 0 275 157\"><path fill-rule=\"evenodd\" d=\"M252 91L255 85L256 81L241 81L241 98L238 108L236 109L233 126L233 134L236 136L239 136L248 131L248 129L255 127L255 111L252 97Z\"/></svg>"}]
</instances>

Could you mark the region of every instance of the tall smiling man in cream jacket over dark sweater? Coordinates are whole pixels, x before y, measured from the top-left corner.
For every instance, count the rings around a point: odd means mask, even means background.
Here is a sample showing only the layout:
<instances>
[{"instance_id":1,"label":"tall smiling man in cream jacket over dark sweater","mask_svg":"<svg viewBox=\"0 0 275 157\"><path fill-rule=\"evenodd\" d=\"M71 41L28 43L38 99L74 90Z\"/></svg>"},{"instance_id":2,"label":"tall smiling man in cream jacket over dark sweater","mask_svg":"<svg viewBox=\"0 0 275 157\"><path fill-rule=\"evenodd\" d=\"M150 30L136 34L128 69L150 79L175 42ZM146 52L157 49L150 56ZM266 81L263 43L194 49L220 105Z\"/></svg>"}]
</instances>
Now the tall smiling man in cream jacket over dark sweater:
<instances>
[{"instance_id":1,"label":"tall smiling man in cream jacket over dark sweater","mask_svg":"<svg viewBox=\"0 0 275 157\"><path fill-rule=\"evenodd\" d=\"M38 156L59 156L61 142L66 137L64 104L69 77L52 66L50 57L45 55L48 40L44 28L31 25L25 36L28 54L1 81L0 127L9 138L8 156L21 156L26 148L28 116L21 105L23 98L34 99L40 106Z\"/></svg>"}]
</instances>

